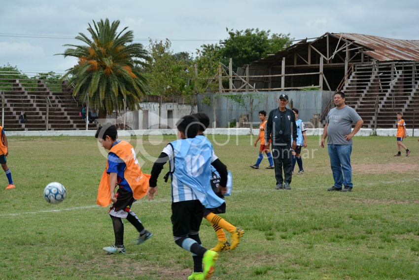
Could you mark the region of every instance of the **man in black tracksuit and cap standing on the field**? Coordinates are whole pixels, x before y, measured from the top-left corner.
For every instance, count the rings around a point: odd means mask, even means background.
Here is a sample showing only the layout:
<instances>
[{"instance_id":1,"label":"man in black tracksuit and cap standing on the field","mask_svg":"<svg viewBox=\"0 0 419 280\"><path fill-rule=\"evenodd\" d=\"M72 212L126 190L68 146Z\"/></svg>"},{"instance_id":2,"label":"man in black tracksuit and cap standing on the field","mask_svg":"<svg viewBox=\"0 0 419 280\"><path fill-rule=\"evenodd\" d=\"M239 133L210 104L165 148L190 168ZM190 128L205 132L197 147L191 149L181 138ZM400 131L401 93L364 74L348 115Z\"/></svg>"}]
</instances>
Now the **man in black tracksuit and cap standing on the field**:
<instances>
[{"instance_id":1,"label":"man in black tracksuit and cap standing on the field","mask_svg":"<svg viewBox=\"0 0 419 280\"><path fill-rule=\"evenodd\" d=\"M294 112L287 109L288 96L281 94L279 96L279 108L269 112L268 122L266 123L265 145L269 145L269 139L272 133L272 155L275 162L275 178L277 186L275 189L291 190L292 178L292 156L291 149L296 147L297 125L295 124ZM291 146L292 133L292 146ZM284 177L282 177L282 166ZM282 185L283 183L283 185Z\"/></svg>"}]
</instances>

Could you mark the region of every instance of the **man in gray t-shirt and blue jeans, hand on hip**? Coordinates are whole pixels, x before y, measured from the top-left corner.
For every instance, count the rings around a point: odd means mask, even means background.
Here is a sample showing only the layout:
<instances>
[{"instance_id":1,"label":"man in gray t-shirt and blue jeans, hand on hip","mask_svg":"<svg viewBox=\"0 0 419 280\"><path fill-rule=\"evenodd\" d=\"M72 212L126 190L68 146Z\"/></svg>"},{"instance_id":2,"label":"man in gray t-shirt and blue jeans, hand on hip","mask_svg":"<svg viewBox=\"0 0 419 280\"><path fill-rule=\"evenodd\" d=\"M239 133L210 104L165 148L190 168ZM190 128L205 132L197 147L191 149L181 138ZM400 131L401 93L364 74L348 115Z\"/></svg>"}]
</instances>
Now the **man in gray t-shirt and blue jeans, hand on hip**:
<instances>
[{"instance_id":1,"label":"man in gray t-shirt and blue jeans, hand on hip","mask_svg":"<svg viewBox=\"0 0 419 280\"><path fill-rule=\"evenodd\" d=\"M330 167L332 168L335 184L328 191L350 192L352 190L352 167L350 154L352 152L352 137L359 131L364 121L359 115L345 104L345 93L336 92L333 96L335 108L330 110L326 118L320 146L324 148L327 137ZM351 132L352 123L355 127ZM342 189L344 185L344 189Z\"/></svg>"}]
</instances>

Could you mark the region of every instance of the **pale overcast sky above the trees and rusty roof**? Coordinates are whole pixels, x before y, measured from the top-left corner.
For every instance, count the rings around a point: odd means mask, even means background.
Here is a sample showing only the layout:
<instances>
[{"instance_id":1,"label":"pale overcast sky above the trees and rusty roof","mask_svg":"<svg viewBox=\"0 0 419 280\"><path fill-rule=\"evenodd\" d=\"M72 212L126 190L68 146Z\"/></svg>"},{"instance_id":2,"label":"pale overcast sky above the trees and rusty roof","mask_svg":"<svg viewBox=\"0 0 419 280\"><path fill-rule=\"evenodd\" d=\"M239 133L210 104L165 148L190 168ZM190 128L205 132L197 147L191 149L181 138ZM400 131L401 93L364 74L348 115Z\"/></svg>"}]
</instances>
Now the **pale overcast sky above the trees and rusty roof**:
<instances>
[{"instance_id":1,"label":"pale overcast sky above the trees and rusty roof","mask_svg":"<svg viewBox=\"0 0 419 280\"><path fill-rule=\"evenodd\" d=\"M344 32L419 40L418 16L418 0L0 0L0 66L64 73L75 59L54 54L105 18L120 20L145 47L149 38L168 38L174 52L194 53L228 38L226 28L295 39Z\"/></svg>"}]
</instances>

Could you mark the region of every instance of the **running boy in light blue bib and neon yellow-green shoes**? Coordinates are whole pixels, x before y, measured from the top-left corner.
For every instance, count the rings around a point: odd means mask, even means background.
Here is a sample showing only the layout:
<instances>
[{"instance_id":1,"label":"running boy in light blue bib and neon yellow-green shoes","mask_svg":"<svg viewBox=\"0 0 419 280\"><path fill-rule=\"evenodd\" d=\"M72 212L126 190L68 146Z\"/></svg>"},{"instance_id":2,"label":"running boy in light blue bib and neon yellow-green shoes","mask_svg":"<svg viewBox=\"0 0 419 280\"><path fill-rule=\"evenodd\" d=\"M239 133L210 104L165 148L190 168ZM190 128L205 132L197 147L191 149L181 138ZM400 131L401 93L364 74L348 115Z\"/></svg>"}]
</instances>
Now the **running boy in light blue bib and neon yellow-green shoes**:
<instances>
[{"instance_id":1,"label":"running boy in light blue bib and neon yellow-green shoes","mask_svg":"<svg viewBox=\"0 0 419 280\"><path fill-rule=\"evenodd\" d=\"M210 165L215 167L221 177L220 191L227 188L227 168L213 153L212 145L206 137L196 137L198 120L185 116L177 123L179 140L168 144L160 154L151 170L149 200L157 195L157 178L163 165L170 161L172 179L172 223L175 243L192 253L194 271L188 280L209 279L214 273L218 253L201 245L199 228L204 215L204 205L211 205L208 190L211 190ZM204 268L202 264L204 263Z\"/></svg>"}]
</instances>

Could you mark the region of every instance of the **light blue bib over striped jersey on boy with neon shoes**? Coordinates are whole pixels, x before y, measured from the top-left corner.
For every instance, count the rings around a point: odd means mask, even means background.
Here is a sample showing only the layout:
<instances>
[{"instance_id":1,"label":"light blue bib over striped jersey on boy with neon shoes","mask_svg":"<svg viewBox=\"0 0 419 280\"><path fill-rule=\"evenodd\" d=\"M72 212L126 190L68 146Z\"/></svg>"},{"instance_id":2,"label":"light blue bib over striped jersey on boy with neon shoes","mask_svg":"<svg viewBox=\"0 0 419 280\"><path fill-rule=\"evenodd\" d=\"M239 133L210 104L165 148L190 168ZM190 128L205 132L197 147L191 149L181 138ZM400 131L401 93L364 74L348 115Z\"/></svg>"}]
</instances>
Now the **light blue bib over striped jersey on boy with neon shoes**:
<instances>
[{"instance_id":1,"label":"light blue bib over striped jersey on boy with neon shoes","mask_svg":"<svg viewBox=\"0 0 419 280\"><path fill-rule=\"evenodd\" d=\"M212 192L210 165L217 157L207 137L198 135L173 141L163 153L169 156L172 202L200 200L204 206L209 205L208 190Z\"/></svg>"}]
</instances>

